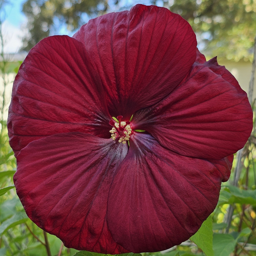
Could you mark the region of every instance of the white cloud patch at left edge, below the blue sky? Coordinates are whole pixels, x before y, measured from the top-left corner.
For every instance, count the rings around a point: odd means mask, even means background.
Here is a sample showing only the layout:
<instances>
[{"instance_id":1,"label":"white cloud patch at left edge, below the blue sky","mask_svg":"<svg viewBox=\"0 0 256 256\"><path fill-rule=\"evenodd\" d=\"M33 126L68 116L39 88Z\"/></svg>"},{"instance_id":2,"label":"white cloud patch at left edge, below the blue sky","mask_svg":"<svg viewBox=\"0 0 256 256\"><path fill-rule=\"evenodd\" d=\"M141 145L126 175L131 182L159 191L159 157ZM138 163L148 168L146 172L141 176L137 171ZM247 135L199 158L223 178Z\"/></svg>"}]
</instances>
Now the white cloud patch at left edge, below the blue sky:
<instances>
[{"instance_id":1,"label":"white cloud patch at left edge, below the blue sky","mask_svg":"<svg viewBox=\"0 0 256 256\"><path fill-rule=\"evenodd\" d=\"M22 47L22 38L26 35L26 32L12 25L8 21L4 21L2 34L4 41L4 53L18 52ZM0 50L2 50L1 46Z\"/></svg>"}]
</instances>

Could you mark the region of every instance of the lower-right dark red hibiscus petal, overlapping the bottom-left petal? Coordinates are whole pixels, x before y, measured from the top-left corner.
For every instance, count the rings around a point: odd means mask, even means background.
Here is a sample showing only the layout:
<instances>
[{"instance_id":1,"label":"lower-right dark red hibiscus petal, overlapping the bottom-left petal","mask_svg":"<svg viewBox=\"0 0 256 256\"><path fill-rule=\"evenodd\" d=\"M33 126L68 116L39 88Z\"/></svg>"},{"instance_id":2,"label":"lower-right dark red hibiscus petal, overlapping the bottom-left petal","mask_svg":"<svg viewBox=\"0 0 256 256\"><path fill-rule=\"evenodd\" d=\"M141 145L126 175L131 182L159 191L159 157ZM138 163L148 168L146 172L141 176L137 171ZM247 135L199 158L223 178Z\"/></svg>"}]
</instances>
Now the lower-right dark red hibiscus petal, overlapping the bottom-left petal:
<instances>
[{"instance_id":1,"label":"lower-right dark red hibiscus petal, overlapping the bottom-left petal","mask_svg":"<svg viewBox=\"0 0 256 256\"><path fill-rule=\"evenodd\" d=\"M113 239L134 253L170 248L189 239L215 209L233 156L184 157L151 135L134 134L108 200Z\"/></svg>"}]
</instances>

